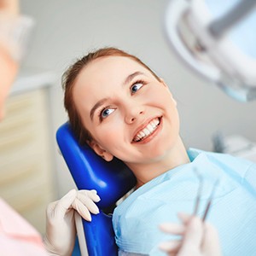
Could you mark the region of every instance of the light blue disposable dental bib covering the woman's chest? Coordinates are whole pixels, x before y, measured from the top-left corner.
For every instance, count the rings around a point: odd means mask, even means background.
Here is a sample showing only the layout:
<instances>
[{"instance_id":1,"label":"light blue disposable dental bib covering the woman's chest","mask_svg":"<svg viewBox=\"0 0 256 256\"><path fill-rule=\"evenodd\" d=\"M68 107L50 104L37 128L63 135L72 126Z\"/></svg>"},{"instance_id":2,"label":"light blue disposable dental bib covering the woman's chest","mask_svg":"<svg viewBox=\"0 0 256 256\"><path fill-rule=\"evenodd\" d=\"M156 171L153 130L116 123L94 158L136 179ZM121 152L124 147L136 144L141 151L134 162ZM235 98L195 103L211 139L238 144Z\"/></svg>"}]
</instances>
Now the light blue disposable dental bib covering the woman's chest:
<instances>
[{"instance_id":1,"label":"light blue disposable dental bib covering the woman's chest","mask_svg":"<svg viewBox=\"0 0 256 256\"><path fill-rule=\"evenodd\" d=\"M256 164L197 149L188 154L191 163L155 177L116 207L113 230L120 250L166 255L158 244L177 237L162 233L158 226L179 222L177 212L193 212L199 186L196 168L204 179L199 213L220 178L207 221L218 229L223 255L256 255Z\"/></svg>"}]
</instances>

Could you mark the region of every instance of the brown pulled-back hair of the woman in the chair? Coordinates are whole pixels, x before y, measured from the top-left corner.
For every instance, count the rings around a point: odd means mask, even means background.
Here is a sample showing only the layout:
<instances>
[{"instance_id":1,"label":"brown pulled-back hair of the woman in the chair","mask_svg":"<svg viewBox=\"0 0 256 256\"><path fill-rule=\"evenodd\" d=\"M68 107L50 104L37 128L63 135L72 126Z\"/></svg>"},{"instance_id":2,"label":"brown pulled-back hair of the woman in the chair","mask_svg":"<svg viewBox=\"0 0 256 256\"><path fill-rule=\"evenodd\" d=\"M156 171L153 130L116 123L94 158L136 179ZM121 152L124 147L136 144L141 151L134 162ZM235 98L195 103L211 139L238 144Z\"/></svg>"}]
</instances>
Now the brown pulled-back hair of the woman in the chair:
<instances>
[{"instance_id":1,"label":"brown pulled-back hair of the woman in the chair","mask_svg":"<svg viewBox=\"0 0 256 256\"><path fill-rule=\"evenodd\" d=\"M84 144L87 141L90 142L92 136L82 124L82 119L80 118L79 112L75 106L75 102L73 101L73 86L77 77L79 76L79 73L84 67L90 64L90 62L106 56L122 56L137 61L143 67L148 69L148 71L152 73L157 80L160 81L160 78L147 65L145 65L143 61L141 61L134 55L126 53L121 49L113 47L97 49L96 51L90 52L88 55L85 55L84 57L77 60L72 66L67 69L65 73L63 73L62 88L64 90L64 106L67 110L71 128L75 136L78 137L79 143L81 144Z\"/></svg>"}]
</instances>

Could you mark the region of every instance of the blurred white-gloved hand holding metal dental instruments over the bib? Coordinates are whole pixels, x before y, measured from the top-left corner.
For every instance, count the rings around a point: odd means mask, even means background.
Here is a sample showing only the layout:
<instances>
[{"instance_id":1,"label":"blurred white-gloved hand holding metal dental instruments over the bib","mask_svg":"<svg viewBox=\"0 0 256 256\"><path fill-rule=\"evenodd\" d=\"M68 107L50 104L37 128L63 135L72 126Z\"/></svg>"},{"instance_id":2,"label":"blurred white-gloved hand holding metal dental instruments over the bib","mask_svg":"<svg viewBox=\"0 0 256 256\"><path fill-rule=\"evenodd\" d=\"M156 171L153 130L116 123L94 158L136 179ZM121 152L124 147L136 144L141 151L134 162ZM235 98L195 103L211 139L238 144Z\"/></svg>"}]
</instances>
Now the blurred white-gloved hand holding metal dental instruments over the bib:
<instances>
[{"instance_id":1,"label":"blurred white-gloved hand holding metal dental instruments over the bib","mask_svg":"<svg viewBox=\"0 0 256 256\"><path fill-rule=\"evenodd\" d=\"M185 213L178 214L183 224L160 224L160 230L183 236L181 240L164 241L160 249L168 256L219 256L218 232L201 218Z\"/></svg>"}]
</instances>

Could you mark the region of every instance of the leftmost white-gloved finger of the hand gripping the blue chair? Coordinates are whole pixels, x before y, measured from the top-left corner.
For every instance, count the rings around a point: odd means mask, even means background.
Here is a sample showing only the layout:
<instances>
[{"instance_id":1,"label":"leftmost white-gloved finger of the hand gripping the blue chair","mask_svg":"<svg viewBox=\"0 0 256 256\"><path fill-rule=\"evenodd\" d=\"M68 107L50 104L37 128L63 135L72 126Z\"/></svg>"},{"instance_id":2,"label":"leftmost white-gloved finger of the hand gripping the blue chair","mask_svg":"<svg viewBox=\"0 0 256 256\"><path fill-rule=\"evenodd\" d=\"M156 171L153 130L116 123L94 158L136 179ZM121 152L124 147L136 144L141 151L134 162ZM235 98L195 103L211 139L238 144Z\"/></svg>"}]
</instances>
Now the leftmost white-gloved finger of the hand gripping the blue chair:
<instances>
[{"instance_id":1,"label":"leftmost white-gloved finger of the hand gripping the blue chair","mask_svg":"<svg viewBox=\"0 0 256 256\"><path fill-rule=\"evenodd\" d=\"M58 216L58 218L64 218L67 210L71 207L73 201L75 200L77 191L75 189L70 190L67 195L64 195L60 201L57 201L53 214Z\"/></svg>"}]
</instances>

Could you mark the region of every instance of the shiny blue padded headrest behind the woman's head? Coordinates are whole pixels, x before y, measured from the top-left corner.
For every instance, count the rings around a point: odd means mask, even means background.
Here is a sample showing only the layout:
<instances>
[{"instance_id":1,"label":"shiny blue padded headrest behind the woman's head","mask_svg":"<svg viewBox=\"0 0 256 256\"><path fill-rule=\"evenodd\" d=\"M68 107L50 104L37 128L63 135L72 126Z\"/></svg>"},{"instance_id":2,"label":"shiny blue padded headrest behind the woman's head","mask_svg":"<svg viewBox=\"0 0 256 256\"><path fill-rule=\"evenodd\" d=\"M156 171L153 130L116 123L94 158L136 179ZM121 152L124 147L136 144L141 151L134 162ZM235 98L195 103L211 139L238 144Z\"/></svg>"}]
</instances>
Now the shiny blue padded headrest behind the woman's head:
<instances>
[{"instance_id":1,"label":"shiny blue padded headrest behind the woman's head","mask_svg":"<svg viewBox=\"0 0 256 256\"><path fill-rule=\"evenodd\" d=\"M69 123L61 125L56 139L78 189L96 189L98 207L112 206L136 184L131 170L118 159L103 160L89 146L81 146Z\"/></svg>"}]
</instances>

